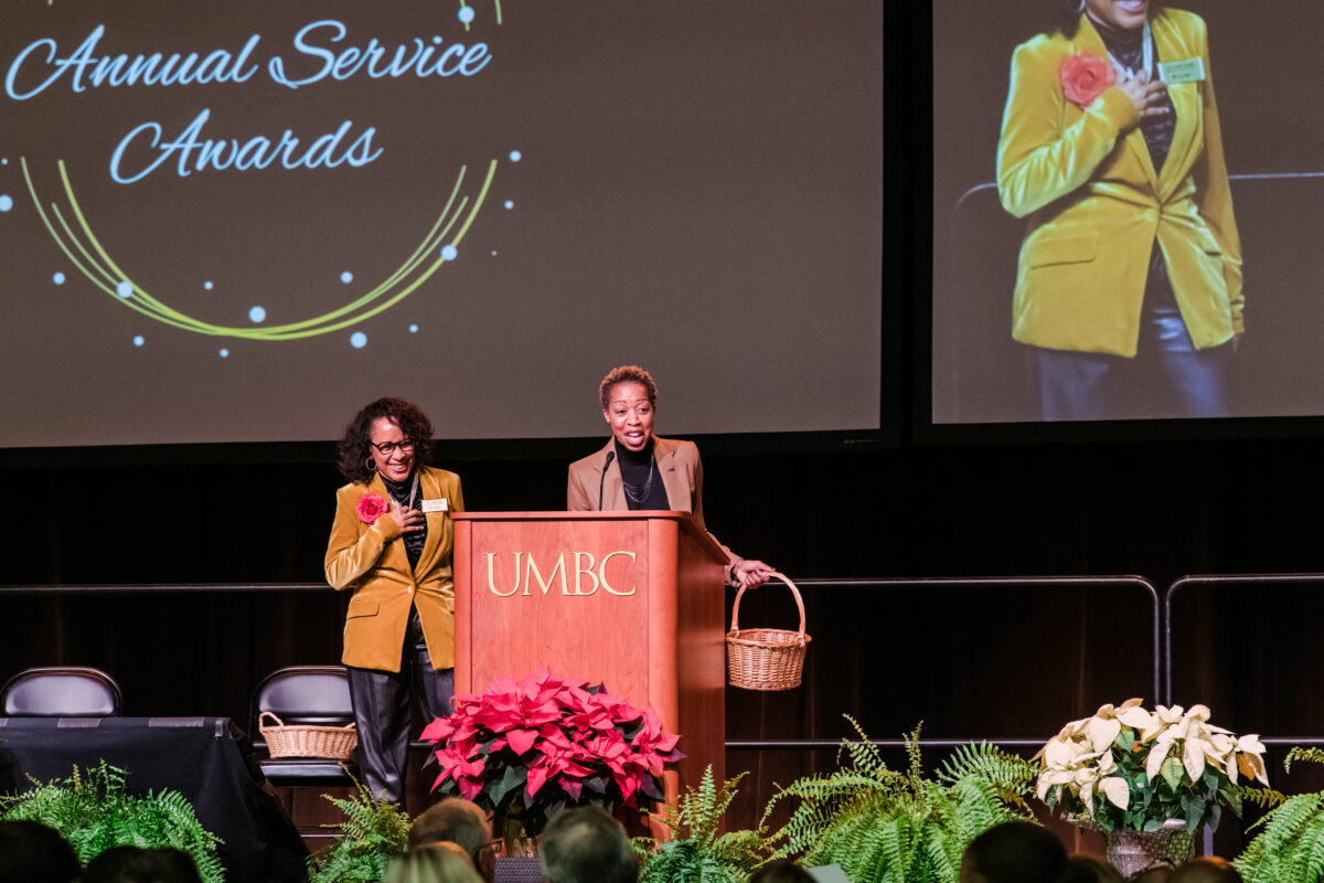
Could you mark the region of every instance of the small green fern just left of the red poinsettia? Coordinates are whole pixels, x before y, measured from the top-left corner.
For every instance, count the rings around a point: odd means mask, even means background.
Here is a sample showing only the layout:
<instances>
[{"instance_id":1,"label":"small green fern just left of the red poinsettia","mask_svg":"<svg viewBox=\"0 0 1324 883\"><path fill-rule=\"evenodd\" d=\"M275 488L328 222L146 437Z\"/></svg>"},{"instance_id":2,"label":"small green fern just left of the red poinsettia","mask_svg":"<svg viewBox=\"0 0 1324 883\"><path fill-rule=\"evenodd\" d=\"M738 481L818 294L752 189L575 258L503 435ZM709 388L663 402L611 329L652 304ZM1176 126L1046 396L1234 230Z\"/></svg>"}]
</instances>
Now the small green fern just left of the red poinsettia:
<instances>
[{"instance_id":1,"label":"small green fern just left of the red poinsettia","mask_svg":"<svg viewBox=\"0 0 1324 883\"><path fill-rule=\"evenodd\" d=\"M380 883L391 859L409 849L409 817L391 801L373 797L357 778L354 784L359 793L351 797L322 796L344 814L344 822L335 842L308 857L310 883Z\"/></svg>"}]
</instances>

